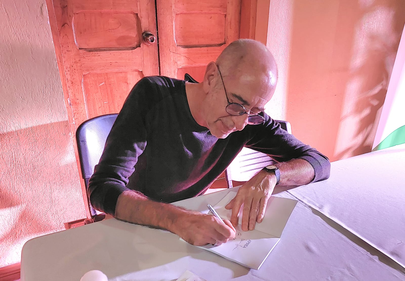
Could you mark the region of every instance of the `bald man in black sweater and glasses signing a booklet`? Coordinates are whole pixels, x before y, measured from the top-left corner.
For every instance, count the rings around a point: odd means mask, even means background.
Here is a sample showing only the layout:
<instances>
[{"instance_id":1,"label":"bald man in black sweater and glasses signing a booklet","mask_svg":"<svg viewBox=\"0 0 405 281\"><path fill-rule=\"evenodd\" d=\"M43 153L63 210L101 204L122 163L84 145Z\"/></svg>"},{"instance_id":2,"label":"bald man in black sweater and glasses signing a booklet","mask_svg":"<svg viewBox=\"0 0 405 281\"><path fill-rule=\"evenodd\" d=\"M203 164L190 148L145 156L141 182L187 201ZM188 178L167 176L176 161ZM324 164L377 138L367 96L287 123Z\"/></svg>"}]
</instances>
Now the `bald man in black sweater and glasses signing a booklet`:
<instances>
[{"instance_id":1,"label":"bald man in black sweater and glasses signing a booklet","mask_svg":"<svg viewBox=\"0 0 405 281\"><path fill-rule=\"evenodd\" d=\"M264 216L276 184L325 180L330 163L264 113L277 82L273 55L254 40L237 40L211 61L198 84L142 78L117 116L90 178L92 205L115 218L169 230L194 245L233 239ZM231 221L167 203L204 194L243 147L275 159L239 188L226 206Z\"/></svg>"}]
</instances>

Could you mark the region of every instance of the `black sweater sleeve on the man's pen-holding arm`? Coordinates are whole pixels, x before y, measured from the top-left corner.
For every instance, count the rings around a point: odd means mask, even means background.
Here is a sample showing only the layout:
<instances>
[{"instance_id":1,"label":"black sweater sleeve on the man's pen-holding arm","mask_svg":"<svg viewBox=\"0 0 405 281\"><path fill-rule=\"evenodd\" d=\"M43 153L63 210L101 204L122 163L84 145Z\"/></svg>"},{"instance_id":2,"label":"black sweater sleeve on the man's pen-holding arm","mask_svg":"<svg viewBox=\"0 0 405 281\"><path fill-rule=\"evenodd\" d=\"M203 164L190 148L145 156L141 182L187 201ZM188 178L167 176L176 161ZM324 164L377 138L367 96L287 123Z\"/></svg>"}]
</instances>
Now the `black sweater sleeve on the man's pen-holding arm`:
<instances>
[{"instance_id":1,"label":"black sweater sleeve on the man's pen-holding arm","mask_svg":"<svg viewBox=\"0 0 405 281\"><path fill-rule=\"evenodd\" d=\"M130 91L107 137L100 161L94 167L87 189L92 206L112 216L118 196L128 190L128 178L146 147L147 126L153 86L148 78Z\"/></svg>"}]
</instances>

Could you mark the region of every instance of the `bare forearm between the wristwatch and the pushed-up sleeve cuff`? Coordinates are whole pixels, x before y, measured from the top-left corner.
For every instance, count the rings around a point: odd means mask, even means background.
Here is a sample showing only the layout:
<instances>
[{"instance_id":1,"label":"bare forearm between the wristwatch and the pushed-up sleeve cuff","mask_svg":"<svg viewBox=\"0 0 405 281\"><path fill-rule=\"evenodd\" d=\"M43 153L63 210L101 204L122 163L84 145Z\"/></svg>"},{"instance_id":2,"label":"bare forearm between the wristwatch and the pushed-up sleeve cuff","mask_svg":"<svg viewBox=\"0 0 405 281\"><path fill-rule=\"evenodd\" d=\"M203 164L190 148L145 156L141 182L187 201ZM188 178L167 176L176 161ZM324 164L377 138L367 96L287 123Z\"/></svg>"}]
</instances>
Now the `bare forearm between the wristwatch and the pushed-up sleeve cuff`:
<instances>
[{"instance_id":1,"label":"bare forearm between the wristwatch and the pushed-up sleeve cuff","mask_svg":"<svg viewBox=\"0 0 405 281\"><path fill-rule=\"evenodd\" d=\"M287 162L277 163L280 170L281 186L301 186L309 184L315 177L315 171L311 164L304 159L292 159Z\"/></svg>"}]
</instances>

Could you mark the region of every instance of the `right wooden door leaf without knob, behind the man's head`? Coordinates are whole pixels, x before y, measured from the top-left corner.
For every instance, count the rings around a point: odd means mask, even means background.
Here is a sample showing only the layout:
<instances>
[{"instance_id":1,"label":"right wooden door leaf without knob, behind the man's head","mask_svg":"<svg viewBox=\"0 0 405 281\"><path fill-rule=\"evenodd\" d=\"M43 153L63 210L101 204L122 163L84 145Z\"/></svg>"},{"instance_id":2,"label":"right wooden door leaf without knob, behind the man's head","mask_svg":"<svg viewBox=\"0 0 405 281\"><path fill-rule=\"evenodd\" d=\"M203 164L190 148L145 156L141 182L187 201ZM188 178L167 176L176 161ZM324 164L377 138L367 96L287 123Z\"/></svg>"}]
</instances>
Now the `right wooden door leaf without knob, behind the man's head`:
<instances>
[{"instance_id":1,"label":"right wooden door leaf without knob, behind the man's head","mask_svg":"<svg viewBox=\"0 0 405 281\"><path fill-rule=\"evenodd\" d=\"M239 38L240 0L157 0L160 74L202 81L205 68Z\"/></svg>"}]
</instances>

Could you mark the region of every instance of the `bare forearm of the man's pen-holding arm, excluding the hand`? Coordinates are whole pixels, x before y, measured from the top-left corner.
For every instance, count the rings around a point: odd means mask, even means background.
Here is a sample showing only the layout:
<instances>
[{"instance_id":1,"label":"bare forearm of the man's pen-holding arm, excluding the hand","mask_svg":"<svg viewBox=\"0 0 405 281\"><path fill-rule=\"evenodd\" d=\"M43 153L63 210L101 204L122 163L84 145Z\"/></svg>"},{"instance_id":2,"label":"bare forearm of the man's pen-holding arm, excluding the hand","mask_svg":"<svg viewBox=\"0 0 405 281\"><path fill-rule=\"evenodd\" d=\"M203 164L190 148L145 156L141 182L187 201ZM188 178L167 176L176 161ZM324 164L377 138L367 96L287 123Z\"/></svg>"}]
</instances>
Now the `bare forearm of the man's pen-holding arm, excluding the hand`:
<instances>
[{"instance_id":1,"label":"bare forearm of the man's pen-holding arm, excluding the hand","mask_svg":"<svg viewBox=\"0 0 405 281\"><path fill-rule=\"evenodd\" d=\"M188 211L171 204L155 202L133 190L119 195L115 207L115 218L156 228L177 232L176 222Z\"/></svg>"}]
</instances>

